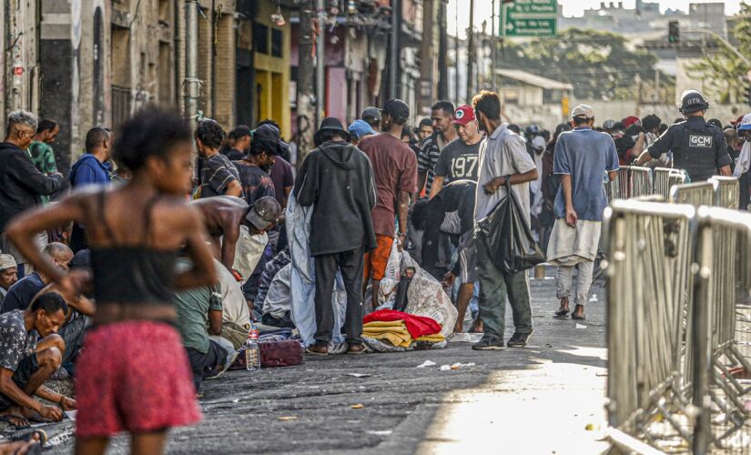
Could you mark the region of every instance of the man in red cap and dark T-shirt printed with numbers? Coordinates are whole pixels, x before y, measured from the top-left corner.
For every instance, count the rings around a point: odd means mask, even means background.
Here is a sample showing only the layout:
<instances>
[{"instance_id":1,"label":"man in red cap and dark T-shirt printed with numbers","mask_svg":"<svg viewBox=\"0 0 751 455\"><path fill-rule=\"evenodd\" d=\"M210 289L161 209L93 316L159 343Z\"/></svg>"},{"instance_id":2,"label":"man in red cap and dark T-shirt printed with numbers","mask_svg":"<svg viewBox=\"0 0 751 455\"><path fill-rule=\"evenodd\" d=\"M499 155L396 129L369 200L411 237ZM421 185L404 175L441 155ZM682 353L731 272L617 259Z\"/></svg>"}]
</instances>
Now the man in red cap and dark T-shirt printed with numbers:
<instances>
[{"instance_id":1,"label":"man in red cap and dark T-shirt printed with numbers","mask_svg":"<svg viewBox=\"0 0 751 455\"><path fill-rule=\"evenodd\" d=\"M441 156L435 164L431 199L441 192L444 184L464 179L477 182L480 174L482 135L472 106L459 106L454 112L452 123L459 140L453 141L441 150Z\"/></svg>"}]
</instances>

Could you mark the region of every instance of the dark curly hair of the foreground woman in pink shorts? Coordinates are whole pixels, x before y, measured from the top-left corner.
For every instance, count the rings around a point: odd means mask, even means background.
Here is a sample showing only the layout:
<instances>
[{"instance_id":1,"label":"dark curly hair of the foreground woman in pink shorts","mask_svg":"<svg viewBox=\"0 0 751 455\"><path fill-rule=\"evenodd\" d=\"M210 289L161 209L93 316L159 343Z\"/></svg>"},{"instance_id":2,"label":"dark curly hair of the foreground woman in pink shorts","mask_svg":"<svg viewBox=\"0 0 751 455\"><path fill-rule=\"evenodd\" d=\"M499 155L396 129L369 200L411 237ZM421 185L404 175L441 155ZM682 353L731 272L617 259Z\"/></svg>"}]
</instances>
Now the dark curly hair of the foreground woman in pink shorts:
<instances>
[{"instance_id":1,"label":"dark curly hair of the foreground woman in pink shorts","mask_svg":"<svg viewBox=\"0 0 751 455\"><path fill-rule=\"evenodd\" d=\"M176 145L190 141L190 126L182 117L148 105L120 127L112 159L136 172L147 157L167 157Z\"/></svg>"}]
</instances>

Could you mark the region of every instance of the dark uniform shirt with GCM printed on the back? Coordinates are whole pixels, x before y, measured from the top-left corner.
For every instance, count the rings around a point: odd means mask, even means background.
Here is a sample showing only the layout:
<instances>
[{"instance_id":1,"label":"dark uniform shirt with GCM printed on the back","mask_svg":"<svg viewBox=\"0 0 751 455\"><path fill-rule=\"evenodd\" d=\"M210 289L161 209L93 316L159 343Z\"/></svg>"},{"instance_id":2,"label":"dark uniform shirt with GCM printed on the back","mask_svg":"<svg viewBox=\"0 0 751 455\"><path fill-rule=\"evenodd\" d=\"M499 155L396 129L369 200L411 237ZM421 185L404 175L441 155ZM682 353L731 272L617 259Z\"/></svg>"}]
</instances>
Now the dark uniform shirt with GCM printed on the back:
<instances>
[{"instance_id":1,"label":"dark uniform shirt with GCM printed on the back","mask_svg":"<svg viewBox=\"0 0 751 455\"><path fill-rule=\"evenodd\" d=\"M668 127L647 151L654 158L672 151L673 167L684 169L692 182L705 181L715 176L717 169L732 163L725 135L707 124L703 116L689 116L685 122Z\"/></svg>"}]
</instances>

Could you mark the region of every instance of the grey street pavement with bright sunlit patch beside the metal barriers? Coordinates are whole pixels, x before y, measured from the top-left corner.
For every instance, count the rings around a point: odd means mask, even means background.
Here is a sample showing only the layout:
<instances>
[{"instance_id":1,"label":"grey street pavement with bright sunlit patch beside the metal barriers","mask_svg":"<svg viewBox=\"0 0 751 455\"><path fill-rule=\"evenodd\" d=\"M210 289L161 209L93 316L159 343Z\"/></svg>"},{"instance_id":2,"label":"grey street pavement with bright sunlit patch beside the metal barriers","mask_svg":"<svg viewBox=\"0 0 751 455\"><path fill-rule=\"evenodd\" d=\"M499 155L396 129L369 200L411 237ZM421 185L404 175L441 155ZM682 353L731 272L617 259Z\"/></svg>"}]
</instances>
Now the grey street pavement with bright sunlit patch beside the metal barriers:
<instances>
[{"instance_id":1,"label":"grey street pavement with bright sunlit patch beside the metal barriers","mask_svg":"<svg viewBox=\"0 0 751 455\"><path fill-rule=\"evenodd\" d=\"M441 350L308 358L297 368L229 372L207 381L204 422L172 431L167 450L601 453L607 448L597 440L605 421L604 290L593 287L599 301L577 329L573 320L551 318L554 284L532 281L535 334L528 349L478 352L469 343L450 343ZM512 332L507 329L507 338ZM437 365L416 368L425 360ZM456 362L475 366L439 369ZM49 427L58 443L51 452L71 453L70 424ZM109 453L127 453L127 439L113 440Z\"/></svg>"}]
</instances>

